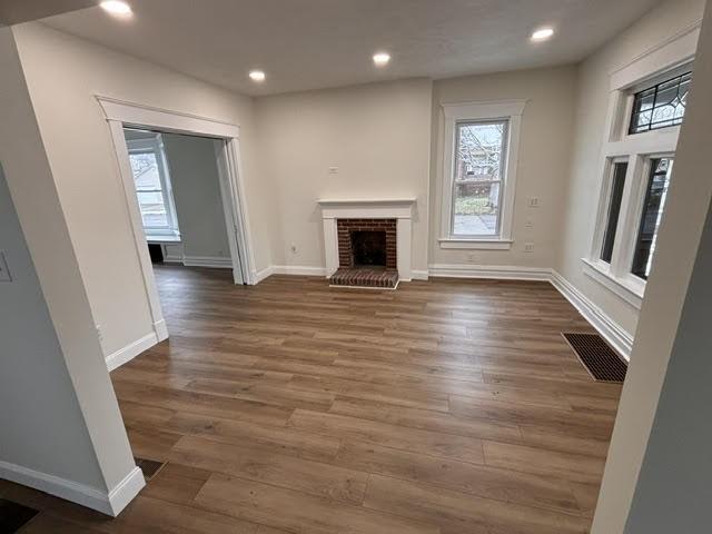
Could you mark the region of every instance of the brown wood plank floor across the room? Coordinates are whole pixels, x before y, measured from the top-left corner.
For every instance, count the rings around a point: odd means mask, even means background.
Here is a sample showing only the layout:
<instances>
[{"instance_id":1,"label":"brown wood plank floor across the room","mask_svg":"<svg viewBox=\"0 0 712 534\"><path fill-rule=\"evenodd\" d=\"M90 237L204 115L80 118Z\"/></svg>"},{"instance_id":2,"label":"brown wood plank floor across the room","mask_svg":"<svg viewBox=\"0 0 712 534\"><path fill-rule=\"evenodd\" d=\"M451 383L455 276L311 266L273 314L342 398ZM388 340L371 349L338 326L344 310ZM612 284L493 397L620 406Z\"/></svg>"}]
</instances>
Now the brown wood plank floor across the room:
<instances>
[{"instance_id":1,"label":"brown wood plank floor across the room","mask_svg":"<svg viewBox=\"0 0 712 534\"><path fill-rule=\"evenodd\" d=\"M589 532L621 388L548 284L157 279L170 340L111 377L135 455L168 464L117 520L2 483L41 510L23 533Z\"/></svg>"}]
</instances>

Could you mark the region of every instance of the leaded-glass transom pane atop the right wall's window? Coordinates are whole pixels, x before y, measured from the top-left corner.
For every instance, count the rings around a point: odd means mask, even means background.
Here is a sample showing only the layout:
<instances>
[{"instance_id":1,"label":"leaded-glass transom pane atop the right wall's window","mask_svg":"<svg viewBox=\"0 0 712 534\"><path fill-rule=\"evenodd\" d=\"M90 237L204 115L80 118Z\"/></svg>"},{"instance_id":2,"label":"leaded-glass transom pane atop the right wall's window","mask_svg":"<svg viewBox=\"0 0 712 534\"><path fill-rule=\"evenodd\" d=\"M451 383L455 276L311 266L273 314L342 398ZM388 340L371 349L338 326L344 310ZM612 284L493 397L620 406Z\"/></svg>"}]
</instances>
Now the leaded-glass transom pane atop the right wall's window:
<instances>
[{"instance_id":1,"label":"leaded-glass transom pane atop the right wall's window","mask_svg":"<svg viewBox=\"0 0 712 534\"><path fill-rule=\"evenodd\" d=\"M686 109L692 72L662 81L633 96L629 134L681 125Z\"/></svg>"}]
</instances>

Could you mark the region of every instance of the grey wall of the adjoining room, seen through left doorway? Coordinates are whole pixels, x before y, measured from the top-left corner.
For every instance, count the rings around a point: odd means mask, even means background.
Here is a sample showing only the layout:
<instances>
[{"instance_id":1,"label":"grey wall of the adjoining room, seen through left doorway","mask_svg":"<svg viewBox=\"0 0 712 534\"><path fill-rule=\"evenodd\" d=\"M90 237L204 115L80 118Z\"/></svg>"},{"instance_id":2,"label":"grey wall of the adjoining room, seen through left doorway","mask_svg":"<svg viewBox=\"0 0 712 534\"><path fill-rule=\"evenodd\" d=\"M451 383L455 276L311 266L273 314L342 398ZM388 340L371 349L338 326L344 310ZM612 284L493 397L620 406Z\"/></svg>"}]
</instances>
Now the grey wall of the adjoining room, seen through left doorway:
<instances>
[{"instance_id":1,"label":"grey wall of the adjoining room, seen through left doorway","mask_svg":"<svg viewBox=\"0 0 712 534\"><path fill-rule=\"evenodd\" d=\"M184 255L230 258L214 139L164 134Z\"/></svg>"}]
</instances>

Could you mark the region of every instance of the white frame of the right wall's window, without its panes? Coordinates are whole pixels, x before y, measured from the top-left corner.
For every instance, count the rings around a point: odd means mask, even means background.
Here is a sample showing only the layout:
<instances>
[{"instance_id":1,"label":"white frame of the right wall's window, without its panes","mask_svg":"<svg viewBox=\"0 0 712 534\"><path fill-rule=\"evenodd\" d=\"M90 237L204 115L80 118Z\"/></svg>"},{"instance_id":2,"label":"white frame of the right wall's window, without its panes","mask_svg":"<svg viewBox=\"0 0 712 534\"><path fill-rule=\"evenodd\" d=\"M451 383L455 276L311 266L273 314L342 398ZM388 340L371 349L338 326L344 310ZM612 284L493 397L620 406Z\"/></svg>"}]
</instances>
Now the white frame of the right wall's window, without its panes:
<instances>
[{"instance_id":1,"label":"white frame of the right wall's window, without its panes","mask_svg":"<svg viewBox=\"0 0 712 534\"><path fill-rule=\"evenodd\" d=\"M602 150L602 165L596 225L589 256L582 258L584 273L640 309L645 280L631 273L640 230L651 160L673 158L680 126L629 134L634 95L678 73L692 70L699 27L676 36L611 75L611 95ZM601 259L607 226L613 164L627 160L627 172L621 201L611 263ZM673 178L674 179L674 178Z\"/></svg>"}]
</instances>

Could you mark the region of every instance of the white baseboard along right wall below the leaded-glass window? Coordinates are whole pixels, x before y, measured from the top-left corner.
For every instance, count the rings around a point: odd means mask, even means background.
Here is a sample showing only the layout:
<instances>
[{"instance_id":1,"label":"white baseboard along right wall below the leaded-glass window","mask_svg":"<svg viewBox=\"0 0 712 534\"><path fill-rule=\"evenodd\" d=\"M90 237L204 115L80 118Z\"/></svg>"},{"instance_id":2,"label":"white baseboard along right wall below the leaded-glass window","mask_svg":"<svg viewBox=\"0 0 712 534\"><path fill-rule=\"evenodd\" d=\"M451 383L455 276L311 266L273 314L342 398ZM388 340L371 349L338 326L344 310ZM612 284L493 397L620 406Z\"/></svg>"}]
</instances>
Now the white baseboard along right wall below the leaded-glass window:
<instances>
[{"instance_id":1,"label":"white baseboard along right wall below the leaded-glass window","mask_svg":"<svg viewBox=\"0 0 712 534\"><path fill-rule=\"evenodd\" d=\"M599 330L599 334L630 362L633 336L555 270L552 270L551 283Z\"/></svg>"}]
</instances>

